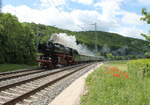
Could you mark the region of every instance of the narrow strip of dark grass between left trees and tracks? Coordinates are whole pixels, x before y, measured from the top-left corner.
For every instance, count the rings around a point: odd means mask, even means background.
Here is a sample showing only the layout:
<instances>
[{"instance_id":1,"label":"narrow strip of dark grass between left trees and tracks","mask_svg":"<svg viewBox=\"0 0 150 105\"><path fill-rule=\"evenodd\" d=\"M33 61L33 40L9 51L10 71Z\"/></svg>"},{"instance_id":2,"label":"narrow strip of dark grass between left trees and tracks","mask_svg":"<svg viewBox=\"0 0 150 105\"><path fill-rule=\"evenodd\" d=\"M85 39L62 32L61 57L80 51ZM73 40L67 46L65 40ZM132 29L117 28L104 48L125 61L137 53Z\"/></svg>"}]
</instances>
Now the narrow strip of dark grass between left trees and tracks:
<instances>
[{"instance_id":1,"label":"narrow strip of dark grass between left trees and tracks","mask_svg":"<svg viewBox=\"0 0 150 105\"><path fill-rule=\"evenodd\" d=\"M25 64L0 64L0 72L14 71L19 69L36 68L37 66L25 65Z\"/></svg>"}]
</instances>

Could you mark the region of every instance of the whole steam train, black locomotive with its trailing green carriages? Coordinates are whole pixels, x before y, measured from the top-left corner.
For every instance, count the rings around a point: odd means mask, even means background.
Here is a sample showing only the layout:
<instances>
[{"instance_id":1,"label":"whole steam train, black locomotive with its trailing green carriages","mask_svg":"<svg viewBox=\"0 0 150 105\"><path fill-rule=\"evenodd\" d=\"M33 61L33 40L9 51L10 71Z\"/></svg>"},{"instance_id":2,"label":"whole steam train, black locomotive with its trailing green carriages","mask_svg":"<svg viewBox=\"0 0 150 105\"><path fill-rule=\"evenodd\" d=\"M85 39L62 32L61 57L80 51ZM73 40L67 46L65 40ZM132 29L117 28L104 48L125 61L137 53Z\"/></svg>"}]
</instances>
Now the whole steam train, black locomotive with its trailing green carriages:
<instances>
[{"instance_id":1,"label":"whole steam train, black locomotive with its trailing green carriages","mask_svg":"<svg viewBox=\"0 0 150 105\"><path fill-rule=\"evenodd\" d=\"M65 47L58 43L39 44L38 50L41 53L37 60L42 68L55 68L58 65L73 65L83 62L100 61L102 58L79 54L76 50Z\"/></svg>"}]
</instances>

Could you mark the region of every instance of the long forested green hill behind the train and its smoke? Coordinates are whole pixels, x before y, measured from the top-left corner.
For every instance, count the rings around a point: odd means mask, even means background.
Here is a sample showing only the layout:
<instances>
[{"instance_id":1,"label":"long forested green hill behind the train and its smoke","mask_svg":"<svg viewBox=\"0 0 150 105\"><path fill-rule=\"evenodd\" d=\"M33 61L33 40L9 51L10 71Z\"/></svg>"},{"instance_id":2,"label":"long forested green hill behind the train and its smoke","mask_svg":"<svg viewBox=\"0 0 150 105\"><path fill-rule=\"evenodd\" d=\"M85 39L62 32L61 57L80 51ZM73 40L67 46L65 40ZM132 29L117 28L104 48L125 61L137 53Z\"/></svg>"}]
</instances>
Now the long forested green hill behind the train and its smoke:
<instances>
[{"instance_id":1,"label":"long forested green hill behind the train and its smoke","mask_svg":"<svg viewBox=\"0 0 150 105\"><path fill-rule=\"evenodd\" d=\"M73 32L63 30L52 26L45 26L34 23L23 23L28 25L33 34L40 42L47 41L52 33L67 33L68 35L75 35L78 43L85 44L90 50L95 49L95 33L94 31ZM142 56L145 52L149 52L149 42L124 37L116 33L97 31L97 46L98 55L106 55L112 53L114 56L138 55Z\"/></svg>"}]
</instances>

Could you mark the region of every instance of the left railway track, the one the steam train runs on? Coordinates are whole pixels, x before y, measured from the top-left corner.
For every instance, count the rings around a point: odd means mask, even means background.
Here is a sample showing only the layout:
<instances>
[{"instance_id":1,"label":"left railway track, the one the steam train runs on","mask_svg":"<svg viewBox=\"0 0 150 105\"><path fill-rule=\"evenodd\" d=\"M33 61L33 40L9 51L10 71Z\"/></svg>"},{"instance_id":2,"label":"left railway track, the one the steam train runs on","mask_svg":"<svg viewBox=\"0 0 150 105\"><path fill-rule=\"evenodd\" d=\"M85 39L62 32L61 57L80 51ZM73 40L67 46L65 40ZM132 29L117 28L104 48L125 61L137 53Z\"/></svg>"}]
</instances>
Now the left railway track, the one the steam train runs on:
<instances>
[{"instance_id":1,"label":"left railway track, the one the steam train runs on","mask_svg":"<svg viewBox=\"0 0 150 105\"><path fill-rule=\"evenodd\" d=\"M80 64L81 65L81 64ZM40 78L40 77L44 77L49 75L49 73L55 72L55 71L59 71L59 70L65 70L65 69L69 69L72 67L76 67L79 65L73 65L73 66L69 66L69 67L63 67L62 69L53 69L53 70L27 70L18 73L14 72L14 73L10 73L8 75L1 75L0 76L0 87L5 86L7 84L14 84L16 82L21 82L21 81L25 81L25 80L29 80L29 79L36 79L36 78Z\"/></svg>"}]
</instances>

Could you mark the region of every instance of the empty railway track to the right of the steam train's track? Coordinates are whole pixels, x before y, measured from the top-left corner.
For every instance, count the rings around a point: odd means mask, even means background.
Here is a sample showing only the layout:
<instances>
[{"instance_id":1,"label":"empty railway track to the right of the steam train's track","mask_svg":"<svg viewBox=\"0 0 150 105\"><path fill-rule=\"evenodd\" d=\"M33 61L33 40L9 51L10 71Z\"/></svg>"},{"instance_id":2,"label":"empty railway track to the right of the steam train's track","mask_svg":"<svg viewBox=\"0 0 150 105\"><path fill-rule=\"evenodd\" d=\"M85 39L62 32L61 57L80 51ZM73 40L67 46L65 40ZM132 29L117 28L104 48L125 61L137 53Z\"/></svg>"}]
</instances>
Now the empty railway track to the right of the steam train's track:
<instances>
[{"instance_id":1,"label":"empty railway track to the right of the steam train's track","mask_svg":"<svg viewBox=\"0 0 150 105\"><path fill-rule=\"evenodd\" d=\"M61 79L72 75L73 73L80 71L89 65L91 64L80 64L65 67L63 69L56 69L54 71L47 71L42 75L0 86L0 104L15 105L16 103L25 100L33 94L42 91L42 89L51 86Z\"/></svg>"}]
</instances>

